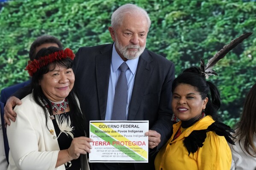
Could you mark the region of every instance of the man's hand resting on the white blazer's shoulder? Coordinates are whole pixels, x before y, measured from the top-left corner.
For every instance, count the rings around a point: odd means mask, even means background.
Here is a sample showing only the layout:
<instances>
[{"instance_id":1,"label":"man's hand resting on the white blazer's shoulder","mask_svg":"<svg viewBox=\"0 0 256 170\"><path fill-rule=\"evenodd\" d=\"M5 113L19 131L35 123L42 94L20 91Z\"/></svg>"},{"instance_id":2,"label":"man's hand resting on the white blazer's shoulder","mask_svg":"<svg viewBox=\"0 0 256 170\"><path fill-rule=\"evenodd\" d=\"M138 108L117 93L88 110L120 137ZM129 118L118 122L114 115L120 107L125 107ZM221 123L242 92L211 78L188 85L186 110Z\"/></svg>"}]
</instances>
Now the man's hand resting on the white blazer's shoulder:
<instances>
[{"instance_id":1,"label":"man's hand resting on the white blazer's shoulder","mask_svg":"<svg viewBox=\"0 0 256 170\"><path fill-rule=\"evenodd\" d=\"M16 98L15 96L10 97L7 101L6 101L6 105L4 107L4 121L6 122L6 124L10 125L11 121L9 119L11 119L12 121L15 122L16 120L16 113L13 111L13 107L15 107L16 105L21 105L22 102L20 99Z\"/></svg>"}]
</instances>

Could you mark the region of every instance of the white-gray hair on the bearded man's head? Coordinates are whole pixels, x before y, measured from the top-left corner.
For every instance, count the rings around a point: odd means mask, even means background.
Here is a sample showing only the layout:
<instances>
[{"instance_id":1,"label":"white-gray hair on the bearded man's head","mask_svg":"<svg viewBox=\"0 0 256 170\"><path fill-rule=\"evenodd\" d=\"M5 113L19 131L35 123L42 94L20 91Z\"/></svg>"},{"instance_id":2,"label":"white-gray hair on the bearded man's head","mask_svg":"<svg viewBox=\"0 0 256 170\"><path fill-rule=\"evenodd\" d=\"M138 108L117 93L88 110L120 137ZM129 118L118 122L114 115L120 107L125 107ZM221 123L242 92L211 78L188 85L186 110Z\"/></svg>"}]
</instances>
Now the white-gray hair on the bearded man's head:
<instances>
[{"instance_id":1,"label":"white-gray hair on the bearded man's head","mask_svg":"<svg viewBox=\"0 0 256 170\"><path fill-rule=\"evenodd\" d=\"M113 12L111 16L111 26L116 29L118 26L121 26L121 24L124 21L124 17L127 14L135 15L135 16L141 16L144 15L147 18L147 23L148 23L148 29L150 28L151 21L150 18L147 14L147 12L142 9L141 7L138 7L133 4L125 4L123 6L120 6L115 12Z\"/></svg>"}]
</instances>

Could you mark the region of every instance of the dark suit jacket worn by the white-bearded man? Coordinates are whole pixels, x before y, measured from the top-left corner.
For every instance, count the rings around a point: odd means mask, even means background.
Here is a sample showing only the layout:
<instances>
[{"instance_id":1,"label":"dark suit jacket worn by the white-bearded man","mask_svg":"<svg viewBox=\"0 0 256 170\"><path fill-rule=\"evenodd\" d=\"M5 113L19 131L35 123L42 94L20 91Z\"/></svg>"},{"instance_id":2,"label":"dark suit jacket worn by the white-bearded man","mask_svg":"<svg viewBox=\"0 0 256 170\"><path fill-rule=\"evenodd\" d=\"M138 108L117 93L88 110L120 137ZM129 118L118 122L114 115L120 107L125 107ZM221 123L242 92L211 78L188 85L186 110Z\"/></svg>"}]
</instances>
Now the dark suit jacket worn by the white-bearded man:
<instances>
[{"instance_id":1,"label":"dark suit jacket worn by the white-bearded man","mask_svg":"<svg viewBox=\"0 0 256 170\"><path fill-rule=\"evenodd\" d=\"M87 120L105 120L113 44L82 47L74 60L75 88ZM128 120L149 120L149 129L161 134L159 150L172 133L172 82L174 64L145 49L139 57ZM154 169L155 154L149 164L136 163L136 169ZM147 167L148 166L148 167Z\"/></svg>"}]
</instances>

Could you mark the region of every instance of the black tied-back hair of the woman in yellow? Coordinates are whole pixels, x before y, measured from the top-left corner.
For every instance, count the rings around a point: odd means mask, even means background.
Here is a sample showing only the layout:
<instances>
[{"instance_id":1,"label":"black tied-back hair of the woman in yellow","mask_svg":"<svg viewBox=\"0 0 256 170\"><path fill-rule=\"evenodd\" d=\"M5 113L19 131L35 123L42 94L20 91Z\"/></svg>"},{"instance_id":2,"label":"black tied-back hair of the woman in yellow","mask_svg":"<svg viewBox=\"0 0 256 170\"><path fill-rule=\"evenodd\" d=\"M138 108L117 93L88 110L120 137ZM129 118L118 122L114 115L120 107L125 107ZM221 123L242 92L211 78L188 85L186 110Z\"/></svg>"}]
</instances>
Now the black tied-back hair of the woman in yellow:
<instances>
[{"instance_id":1,"label":"black tied-back hair of the woman in yellow","mask_svg":"<svg viewBox=\"0 0 256 170\"><path fill-rule=\"evenodd\" d=\"M221 107L220 93L214 84L206 81L205 77L201 75L201 72L197 67L185 69L178 75L172 84L172 92L174 92L174 89L179 84L194 86L197 92L200 93L202 99L208 97L205 114L211 115L213 120L218 121L218 109Z\"/></svg>"}]
</instances>

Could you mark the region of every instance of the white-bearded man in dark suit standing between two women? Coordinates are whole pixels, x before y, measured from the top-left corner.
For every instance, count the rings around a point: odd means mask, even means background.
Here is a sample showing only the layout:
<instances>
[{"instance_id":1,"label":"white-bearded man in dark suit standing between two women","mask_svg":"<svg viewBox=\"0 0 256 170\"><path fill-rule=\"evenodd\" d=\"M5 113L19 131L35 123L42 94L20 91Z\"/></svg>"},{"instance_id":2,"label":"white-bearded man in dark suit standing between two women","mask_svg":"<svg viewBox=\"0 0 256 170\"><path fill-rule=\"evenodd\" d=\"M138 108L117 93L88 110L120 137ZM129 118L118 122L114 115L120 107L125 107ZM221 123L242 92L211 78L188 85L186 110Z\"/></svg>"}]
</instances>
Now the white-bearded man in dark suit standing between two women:
<instances>
[{"instance_id":1,"label":"white-bearded man in dark suit standing between two women","mask_svg":"<svg viewBox=\"0 0 256 170\"><path fill-rule=\"evenodd\" d=\"M92 163L91 168L154 170L156 153L172 133L174 64L145 49L151 22L144 9L132 4L121 6L112 14L111 22L113 44L78 50L73 66L75 88L88 122L111 120L115 86L121 73L118 68L124 62L128 65L126 120L149 120L149 163ZM11 113L6 115L15 120Z\"/></svg>"}]
</instances>

